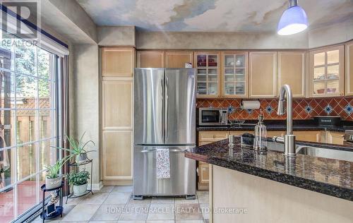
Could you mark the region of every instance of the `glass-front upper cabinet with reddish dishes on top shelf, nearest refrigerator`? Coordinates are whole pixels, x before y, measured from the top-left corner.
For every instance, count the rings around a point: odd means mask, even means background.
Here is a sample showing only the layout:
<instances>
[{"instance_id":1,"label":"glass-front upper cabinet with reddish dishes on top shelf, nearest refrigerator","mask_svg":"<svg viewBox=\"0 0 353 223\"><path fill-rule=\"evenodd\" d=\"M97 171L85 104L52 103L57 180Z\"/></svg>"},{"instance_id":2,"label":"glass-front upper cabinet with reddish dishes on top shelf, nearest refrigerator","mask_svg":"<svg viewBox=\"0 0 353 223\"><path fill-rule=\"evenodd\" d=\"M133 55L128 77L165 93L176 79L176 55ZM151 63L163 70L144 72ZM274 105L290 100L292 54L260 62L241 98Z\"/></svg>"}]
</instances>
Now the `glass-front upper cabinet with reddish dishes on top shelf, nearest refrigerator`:
<instances>
[{"instance_id":1,"label":"glass-front upper cabinet with reddish dishes on top shelf, nearest refrigerator","mask_svg":"<svg viewBox=\"0 0 353 223\"><path fill-rule=\"evenodd\" d=\"M220 96L220 53L195 52L197 97Z\"/></svg>"}]
</instances>

